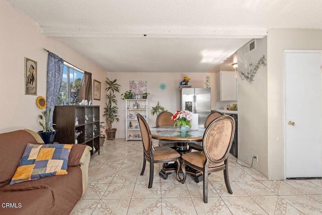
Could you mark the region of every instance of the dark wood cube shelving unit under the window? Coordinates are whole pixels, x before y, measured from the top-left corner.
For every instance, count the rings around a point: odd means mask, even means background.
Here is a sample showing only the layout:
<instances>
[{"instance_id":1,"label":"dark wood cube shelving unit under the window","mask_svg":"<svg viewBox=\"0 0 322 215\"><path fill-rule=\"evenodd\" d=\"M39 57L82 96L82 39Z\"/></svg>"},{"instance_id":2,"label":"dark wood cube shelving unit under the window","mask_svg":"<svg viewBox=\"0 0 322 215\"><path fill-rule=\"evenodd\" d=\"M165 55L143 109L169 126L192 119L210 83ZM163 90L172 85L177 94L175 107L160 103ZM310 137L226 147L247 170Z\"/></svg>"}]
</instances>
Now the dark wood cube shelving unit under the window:
<instances>
[{"instance_id":1,"label":"dark wood cube shelving unit under the window","mask_svg":"<svg viewBox=\"0 0 322 215\"><path fill-rule=\"evenodd\" d=\"M74 144L75 131L82 131L77 137L77 143L92 147L91 155L100 154L100 106L56 105L53 123L57 129L56 142Z\"/></svg>"}]
</instances>

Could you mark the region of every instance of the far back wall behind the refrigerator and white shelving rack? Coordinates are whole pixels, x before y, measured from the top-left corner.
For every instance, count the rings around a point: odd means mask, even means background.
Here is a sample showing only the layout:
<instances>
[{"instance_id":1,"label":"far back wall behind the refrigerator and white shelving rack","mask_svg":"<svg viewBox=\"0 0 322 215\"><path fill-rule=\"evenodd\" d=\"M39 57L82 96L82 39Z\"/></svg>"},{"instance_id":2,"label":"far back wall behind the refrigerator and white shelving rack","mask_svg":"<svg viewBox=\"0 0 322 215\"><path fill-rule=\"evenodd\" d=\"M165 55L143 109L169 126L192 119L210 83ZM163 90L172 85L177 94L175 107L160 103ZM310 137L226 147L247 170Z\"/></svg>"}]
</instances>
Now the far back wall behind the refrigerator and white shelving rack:
<instances>
[{"instance_id":1,"label":"far back wall behind the refrigerator and white shelving rack","mask_svg":"<svg viewBox=\"0 0 322 215\"><path fill-rule=\"evenodd\" d=\"M206 75L210 77L211 87L211 107L216 107L216 80L214 73L108 73L110 80L117 79L121 85L121 91L116 95L118 100L120 122L115 122L113 128L117 128L116 138L125 138L125 100L121 100L121 94L129 90L130 81L147 81L148 95L148 124L155 126L156 115L152 117L151 106L159 104L168 111L174 113L180 109L180 90L179 85L184 76L191 78L189 85L193 88L204 88ZM166 84L166 90L159 88L160 84Z\"/></svg>"}]
</instances>

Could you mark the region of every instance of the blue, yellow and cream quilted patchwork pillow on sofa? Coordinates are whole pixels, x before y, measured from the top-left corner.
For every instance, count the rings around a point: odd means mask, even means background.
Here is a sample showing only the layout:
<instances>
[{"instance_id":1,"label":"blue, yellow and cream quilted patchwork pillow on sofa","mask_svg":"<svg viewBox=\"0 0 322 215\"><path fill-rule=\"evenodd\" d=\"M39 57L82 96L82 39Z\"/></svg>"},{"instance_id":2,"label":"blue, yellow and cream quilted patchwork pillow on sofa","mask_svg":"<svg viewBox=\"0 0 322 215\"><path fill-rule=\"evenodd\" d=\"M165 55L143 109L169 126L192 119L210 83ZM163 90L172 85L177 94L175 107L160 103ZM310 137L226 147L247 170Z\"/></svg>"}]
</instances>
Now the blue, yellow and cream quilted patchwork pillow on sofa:
<instances>
[{"instance_id":1,"label":"blue, yellow and cream quilted patchwork pillow on sofa","mask_svg":"<svg viewBox=\"0 0 322 215\"><path fill-rule=\"evenodd\" d=\"M10 184L67 174L69 144L28 144Z\"/></svg>"}]
</instances>

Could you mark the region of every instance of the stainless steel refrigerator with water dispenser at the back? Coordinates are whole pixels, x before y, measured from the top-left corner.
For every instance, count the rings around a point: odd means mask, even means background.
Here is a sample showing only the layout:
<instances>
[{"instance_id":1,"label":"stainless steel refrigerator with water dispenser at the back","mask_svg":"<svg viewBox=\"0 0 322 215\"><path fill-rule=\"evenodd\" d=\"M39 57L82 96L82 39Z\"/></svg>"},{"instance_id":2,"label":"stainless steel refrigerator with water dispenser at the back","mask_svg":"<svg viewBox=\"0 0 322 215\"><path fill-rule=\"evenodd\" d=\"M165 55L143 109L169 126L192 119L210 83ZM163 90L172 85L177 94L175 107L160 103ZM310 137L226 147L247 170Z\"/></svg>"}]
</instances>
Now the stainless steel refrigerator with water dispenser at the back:
<instances>
[{"instance_id":1,"label":"stainless steel refrigerator with water dispenser at the back","mask_svg":"<svg viewBox=\"0 0 322 215\"><path fill-rule=\"evenodd\" d=\"M211 112L210 88L181 89L180 109L198 113L198 124L199 126L204 125Z\"/></svg>"}]
</instances>

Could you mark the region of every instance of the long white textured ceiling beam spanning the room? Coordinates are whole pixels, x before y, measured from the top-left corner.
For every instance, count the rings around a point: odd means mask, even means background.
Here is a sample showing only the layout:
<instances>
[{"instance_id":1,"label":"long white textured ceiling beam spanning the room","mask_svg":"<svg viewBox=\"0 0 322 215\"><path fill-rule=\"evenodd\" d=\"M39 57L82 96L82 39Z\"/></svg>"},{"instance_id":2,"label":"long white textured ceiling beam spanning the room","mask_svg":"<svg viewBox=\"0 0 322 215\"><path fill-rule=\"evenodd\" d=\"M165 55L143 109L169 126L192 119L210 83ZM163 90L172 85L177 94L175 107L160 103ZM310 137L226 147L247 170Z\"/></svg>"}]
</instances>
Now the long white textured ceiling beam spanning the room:
<instances>
[{"instance_id":1,"label":"long white textured ceiling beam spanning the room","mask_svg":"<svg viewBox=\"0 0 322 215\"><path fill-rule=\"evenodd\" d=\"M40 26L46 36L55 37L154 37L154 38L263 38L267 29L226 28L104 28Z\"/></svg>"}]
</instances>

